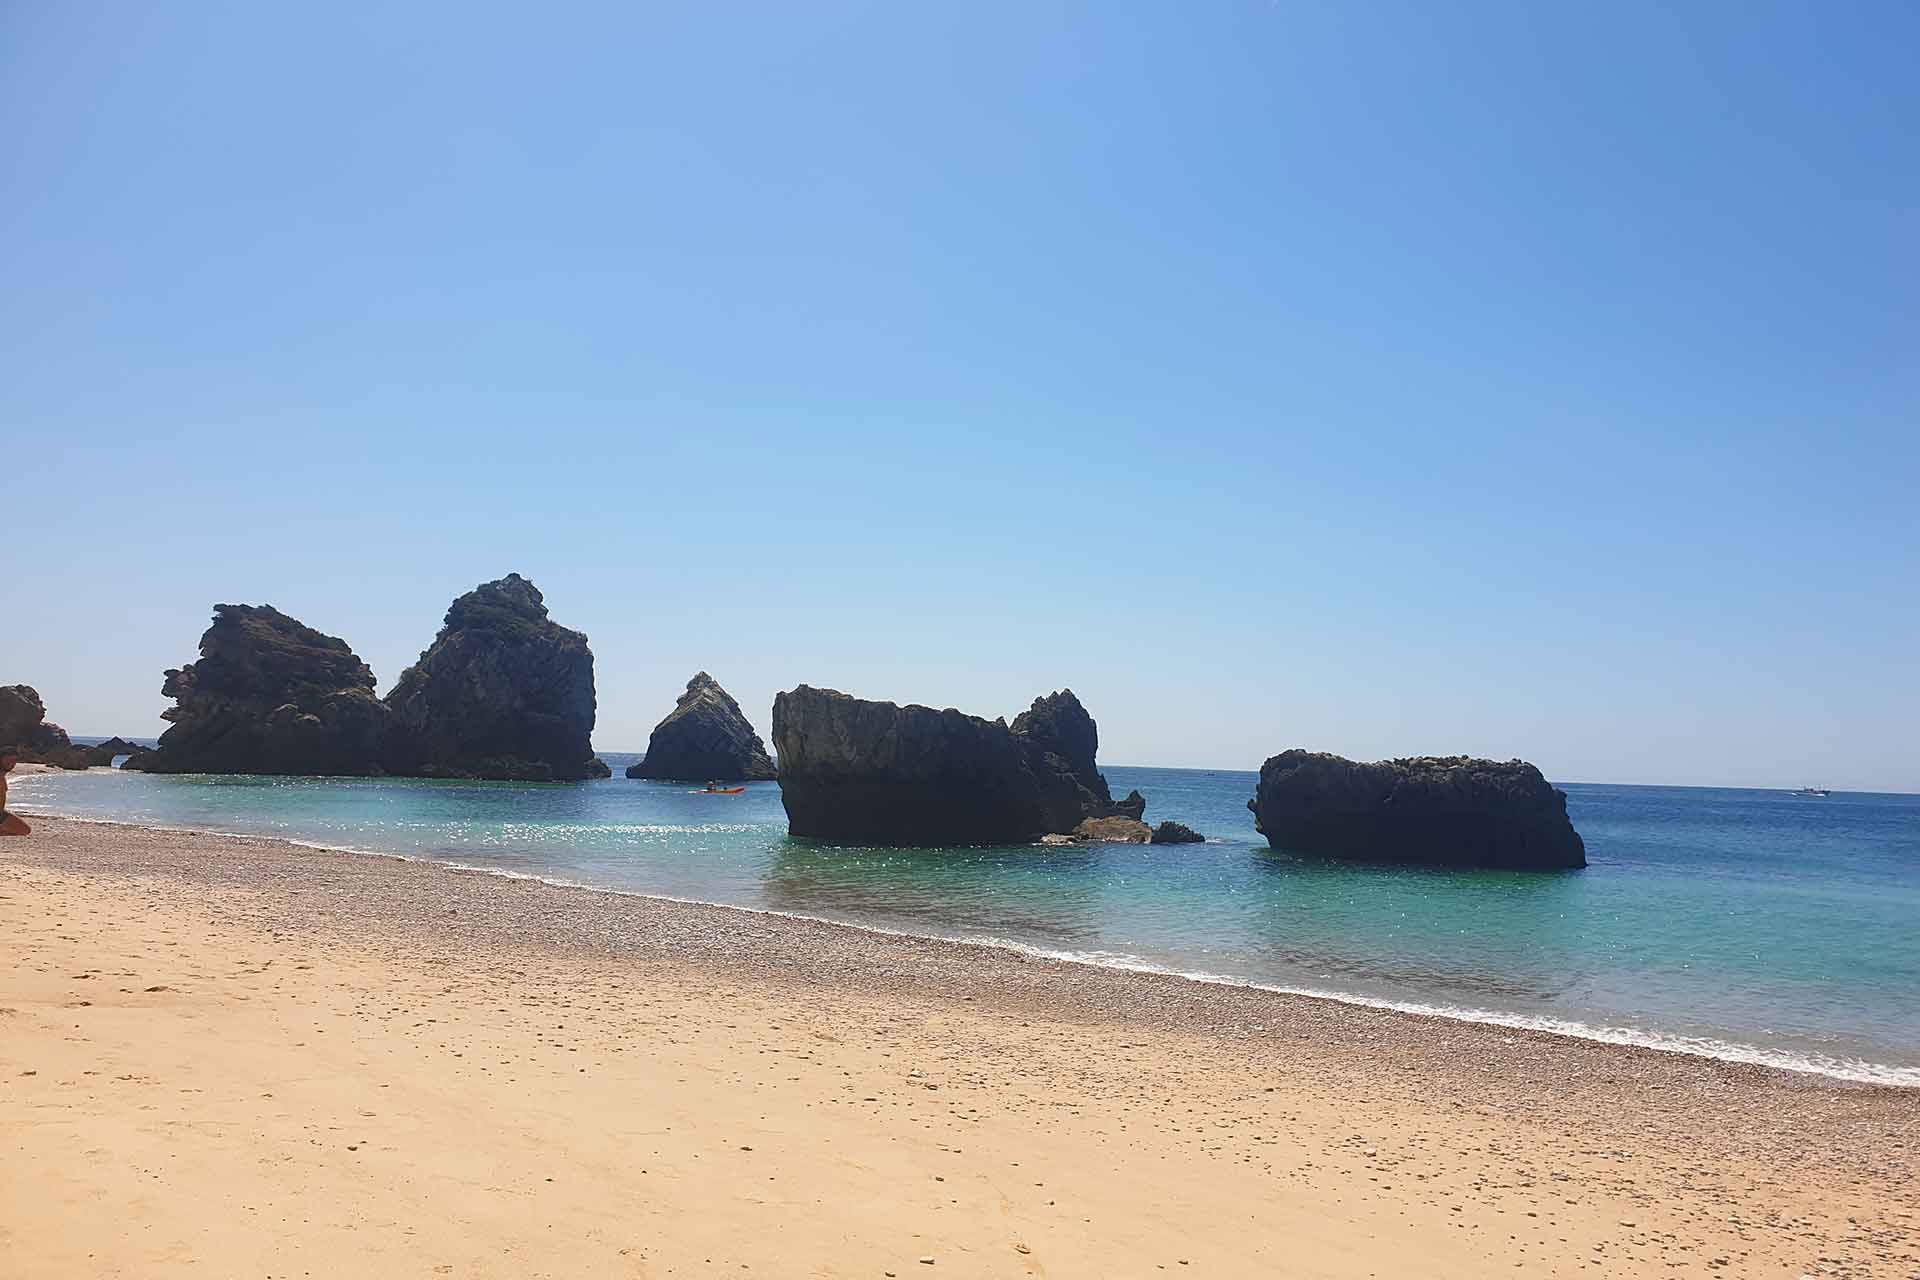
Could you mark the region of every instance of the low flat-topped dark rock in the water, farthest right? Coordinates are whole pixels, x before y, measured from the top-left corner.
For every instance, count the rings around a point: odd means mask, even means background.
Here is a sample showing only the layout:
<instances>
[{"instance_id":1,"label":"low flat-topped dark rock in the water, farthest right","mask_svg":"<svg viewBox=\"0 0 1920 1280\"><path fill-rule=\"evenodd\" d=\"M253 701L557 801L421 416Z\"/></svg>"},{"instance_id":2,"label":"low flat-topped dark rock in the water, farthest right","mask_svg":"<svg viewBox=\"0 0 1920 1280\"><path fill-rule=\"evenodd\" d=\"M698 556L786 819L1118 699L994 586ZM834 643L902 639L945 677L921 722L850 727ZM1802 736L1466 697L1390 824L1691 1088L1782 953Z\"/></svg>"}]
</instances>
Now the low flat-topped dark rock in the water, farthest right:
<instances>
[{"instance_id":1,"label":"low flat-topped dark rock in the water, farthest right","mask_svg":"<svg viewBox=\"0 0 1920 1280\"><path fill-rule=\"evenodd\" d=\"M1294 854L1538 871L1586 865L1567 793L1524 760L1356 764L1288 750L1260 768L1246 808L1267 844Z\"/></svg>"}]
</instances>

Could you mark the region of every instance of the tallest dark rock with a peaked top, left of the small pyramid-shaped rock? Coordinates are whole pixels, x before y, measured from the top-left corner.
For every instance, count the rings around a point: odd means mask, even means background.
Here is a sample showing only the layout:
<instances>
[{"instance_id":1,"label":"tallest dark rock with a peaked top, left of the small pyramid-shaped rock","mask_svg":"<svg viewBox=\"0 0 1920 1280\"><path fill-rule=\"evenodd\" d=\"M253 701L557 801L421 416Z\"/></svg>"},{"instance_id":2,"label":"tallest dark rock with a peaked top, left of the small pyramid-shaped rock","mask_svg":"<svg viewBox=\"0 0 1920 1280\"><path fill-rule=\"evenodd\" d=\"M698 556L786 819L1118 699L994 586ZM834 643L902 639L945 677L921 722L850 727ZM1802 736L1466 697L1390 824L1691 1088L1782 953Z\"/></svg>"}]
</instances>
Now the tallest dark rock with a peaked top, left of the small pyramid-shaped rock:
<instances>
[{"instance_id":1,"label":"tallest dark rock with a peaked top, left of the small pyramid-shaped rock","mask_svg":"<svg viewBox=\"0 0 1920 1280\"><path fill-rule=\"evenodd\" d=\"M593 758L593 651L507 574L453 601L440 635L386 697L388 770L424 777L576 781Z\"/></svg>"}]
</instances>

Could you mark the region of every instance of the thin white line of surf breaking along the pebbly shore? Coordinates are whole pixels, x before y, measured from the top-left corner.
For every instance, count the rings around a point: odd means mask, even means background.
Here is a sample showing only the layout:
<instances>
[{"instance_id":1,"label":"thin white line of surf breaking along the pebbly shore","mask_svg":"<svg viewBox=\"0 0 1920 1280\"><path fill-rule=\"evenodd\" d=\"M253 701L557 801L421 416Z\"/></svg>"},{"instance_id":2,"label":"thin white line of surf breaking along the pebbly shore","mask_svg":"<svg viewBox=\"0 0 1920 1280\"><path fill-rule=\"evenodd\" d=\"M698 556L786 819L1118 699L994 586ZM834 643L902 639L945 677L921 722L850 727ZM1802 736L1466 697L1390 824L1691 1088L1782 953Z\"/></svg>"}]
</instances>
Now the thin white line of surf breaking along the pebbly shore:
<instances>
[{"instance_id":1,"label":"thin white line of surf breaking along the pebbly shore","mask_svg":"<svg viewBox=\"0 0 1920 1280\"><path fill-rule=\"evenodd\" d=\"M31 793L29 793L31 794ZM19 808L15 804L15 808ZM1085 965L1092 969L1106 969L1114 973L1137 973L1162 977L1181 983L1194 983L1202 986L1225 986L1250 992L1261 992L1271 996L1283 996L1290 1000L1321 1000L1329 1004L1357 1007L1357 1009L1377 1009L1388 1013L1400 1013L1417 1019L1438 1019L1448 1023L1461 1023L1469 1027L1488 1027L1524 1034L1544 1034L1563 1040L1578 1040L1586 1044L1605 1044L1620 1050L1638 1050L1647 1054L1676 1054L1684 1057L1697 1057L1715 1063L1732 1063L1743 1067L1755 1067L1763 1071L1780 1071L1786 1075L1814 1077L1818 1080L1849 1084L1849 1086L1868 1086L1868 1088L1895 1088L1895 1090L1920 1090L1920 1067L1901 1067L1891 1063L1876 1063L1866 1059L1836 1059L1836 1057L1811 1057L1795 1050L1776 1050L1757 1044L1743 1044L1738 1040L1722 1040L1715 1036L1682 1036L1674 1032L1649 1031L1642 1027L1611 1027L1584 1023L1572 1017L1551 1017L1551 1015L1528 1015L1528 1013L1509 1013L1503 1009L1484 1009L1469 1006L1450 1006L1432 1004L1423 1000L1398 1000L1388 996L1371 996L1359 992L1342 992L1327 988L1308 988L1308 986L1283 986L1277 983L1261 983L1256 979L1240 979L1227 973L1208 973L1175 969L1169 965L1158 965L1142 958L1116 958L1102 960L1096 956L1075 954L1060 948L1044 948L1029 942L1020 942L1012 938L993 938L993 936L958 936L958 935L939 935L939 933L910 933L904 929L891 929L887 925L872 925L851 919L835 919L829 915L812 915L806 912L783 912L780 908L760 908L760 906L741 906L735 902L714 902L707 898L684 898L674 894L659 894L637 889L614 889L605 885L589 885L584 881L572 881L555 875L538 875L532 871L513 871L505 867L484 867L474 864L461 864L442 858L432 858L426 854L405 854L378 848L355 848L349 844L328 844L323 841L301 841L294 837L265 837L244 831L213 831L207 827L167 827L154 823L132 823L119 821L111 818L75 818L46 810L21 810L27 818L36 821L71 821L100 827L121 827L129 831L152 831L167 835L188 835L188 837L211 837L221 841L263 841L286 844L290 848L303 848L321 854L340 854L355 858L386 858L403 864L417 864L424 867L440 867L445 871L457 871L467 875L488 875L505 881L528 881L536 885L545 885L549 889L566 889L591 894L609 894L618 898L636 898L641 902L662 902L680 904L695 908L712 908L720 912L739 912L745 915L760 915L774 919L793 919L804 923L816 923L833 929L851 929L856 933L866 933L874 936L902 938L914 942L929 944L952 944L952 946L977 946L995 952L1010 952L1033 960L1044 960L1054 963Z\"/></svg>"}]
</instances>

